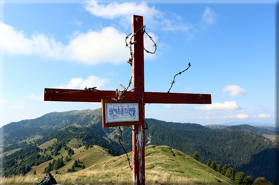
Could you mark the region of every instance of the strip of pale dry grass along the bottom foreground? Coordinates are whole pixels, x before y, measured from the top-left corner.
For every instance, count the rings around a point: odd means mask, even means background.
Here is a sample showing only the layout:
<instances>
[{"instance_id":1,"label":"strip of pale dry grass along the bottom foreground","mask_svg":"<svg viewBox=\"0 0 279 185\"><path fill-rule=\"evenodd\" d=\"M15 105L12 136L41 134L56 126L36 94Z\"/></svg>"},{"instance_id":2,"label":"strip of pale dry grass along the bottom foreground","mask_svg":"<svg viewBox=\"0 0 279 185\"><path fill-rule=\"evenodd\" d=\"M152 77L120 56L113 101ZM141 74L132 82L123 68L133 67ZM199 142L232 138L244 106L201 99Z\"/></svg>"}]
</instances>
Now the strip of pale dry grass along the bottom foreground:
<instances>
[{"instance_id":1,"label":"strip of pale dry grass along the bottom foreground","mask_svg":"<svg viewBox=\"0 0 279 185\"><path fill-rule=\"evenodd\" d=\"M1 185L34 185L43 178L44 175L14 176L10 178L0 178ZM106 184L123 185L133 184L132 171L129 169L84 169L74 173L54 175L57 183L72 185L75 182L79 185ZM163 171L146 170L146 185L195 185L200 184L201 179L177 177L174 174ZM207 183L211 184L211 183Z\"/></svg>"}]
</instances>

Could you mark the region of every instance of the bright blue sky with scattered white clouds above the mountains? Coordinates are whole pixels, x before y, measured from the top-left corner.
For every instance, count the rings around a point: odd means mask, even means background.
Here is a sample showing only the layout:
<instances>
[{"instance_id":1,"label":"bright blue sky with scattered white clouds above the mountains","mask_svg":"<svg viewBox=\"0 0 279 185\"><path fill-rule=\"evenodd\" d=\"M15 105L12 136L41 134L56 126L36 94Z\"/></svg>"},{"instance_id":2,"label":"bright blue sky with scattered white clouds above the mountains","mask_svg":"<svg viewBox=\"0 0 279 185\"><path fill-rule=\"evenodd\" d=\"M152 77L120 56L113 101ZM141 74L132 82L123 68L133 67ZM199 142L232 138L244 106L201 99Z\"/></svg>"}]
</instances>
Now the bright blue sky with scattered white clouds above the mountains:
<instances>
[{"instance_id":1,"label":"bright blue sky with scattered white clouds above the mountains","mask_svg":"<svg viewBox=\"0 0 279 185\"><path fill-rule=\"evenodd\" d=\"M100 103L44 102L44 88L128 86L125 37L143 16L157 43L145 91L211 94L211 105L146 104L146 118L222 124L275 121L277 1L2 1L0 127ZM144 47L153 52L153 43Z\"/></svg>"}]
</instances>

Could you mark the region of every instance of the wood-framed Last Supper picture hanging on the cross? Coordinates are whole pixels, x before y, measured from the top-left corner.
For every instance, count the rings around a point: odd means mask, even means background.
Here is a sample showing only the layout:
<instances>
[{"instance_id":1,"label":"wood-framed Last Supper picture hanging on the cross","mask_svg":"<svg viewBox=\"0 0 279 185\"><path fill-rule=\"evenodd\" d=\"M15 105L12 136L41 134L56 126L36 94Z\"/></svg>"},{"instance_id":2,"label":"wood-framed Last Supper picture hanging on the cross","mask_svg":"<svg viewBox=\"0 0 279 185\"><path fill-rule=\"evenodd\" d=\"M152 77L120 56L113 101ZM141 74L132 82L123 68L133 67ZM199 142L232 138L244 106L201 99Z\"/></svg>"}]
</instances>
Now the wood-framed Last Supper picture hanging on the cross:
<instances>
[{"instance_id":1,"label":"wood-framed Last Supper picture hanging on the cross","mask_svg":"<svg viewBox=\"0 0 279 185\"><path fill-rule=\"evenodd\" d=\"M103 127L139 124L138 100L102 100Z\"/></svg>"}]
</instances>

